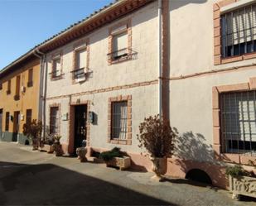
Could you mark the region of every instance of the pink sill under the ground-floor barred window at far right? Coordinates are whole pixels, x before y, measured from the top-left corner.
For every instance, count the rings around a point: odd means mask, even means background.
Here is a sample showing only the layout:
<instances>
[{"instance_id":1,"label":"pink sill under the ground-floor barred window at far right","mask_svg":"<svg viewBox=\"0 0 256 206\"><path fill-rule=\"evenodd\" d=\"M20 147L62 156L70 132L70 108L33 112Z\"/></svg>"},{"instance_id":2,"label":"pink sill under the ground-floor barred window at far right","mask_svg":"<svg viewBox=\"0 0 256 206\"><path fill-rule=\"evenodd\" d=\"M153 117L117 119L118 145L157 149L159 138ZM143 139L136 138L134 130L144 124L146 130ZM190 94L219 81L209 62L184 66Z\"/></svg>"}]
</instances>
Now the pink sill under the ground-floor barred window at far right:
<instances>
[{"instance_id":1,"label":"pink sill under the ground-floor barred window at far right","mask_svg":"<svg viewBox=\"0 0 256 206\"><path fill-rule=\"evenodd\" d=\"M236 163L242 165L249 165L249 161L256 159L256 156L245 156L244 154L233 154L233 153L221 153L220 156L217 156L217 160Z\"/></svg>"}]
</instances>

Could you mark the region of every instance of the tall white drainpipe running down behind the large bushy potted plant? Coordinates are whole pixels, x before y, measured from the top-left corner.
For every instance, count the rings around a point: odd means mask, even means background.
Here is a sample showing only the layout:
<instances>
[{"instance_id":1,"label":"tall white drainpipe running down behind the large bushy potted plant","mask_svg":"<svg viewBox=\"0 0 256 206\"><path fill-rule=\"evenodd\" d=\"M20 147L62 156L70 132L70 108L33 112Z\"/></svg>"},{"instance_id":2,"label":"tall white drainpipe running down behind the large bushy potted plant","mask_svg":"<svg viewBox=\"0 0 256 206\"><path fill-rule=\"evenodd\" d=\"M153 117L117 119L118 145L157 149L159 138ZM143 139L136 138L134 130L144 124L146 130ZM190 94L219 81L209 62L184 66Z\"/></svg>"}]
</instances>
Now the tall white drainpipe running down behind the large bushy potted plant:
<instances>
[{"instance_id":1,"label":"tall white drainpipe running down behind the large bushy potted plant","mask_svg":"<svg viewBox=\"0 0 256 206\"><path fill-rule=\"evenodd\" d=\"M162 120L162 0L158 0L158 113Z\"/></svg>"}]
</instances>

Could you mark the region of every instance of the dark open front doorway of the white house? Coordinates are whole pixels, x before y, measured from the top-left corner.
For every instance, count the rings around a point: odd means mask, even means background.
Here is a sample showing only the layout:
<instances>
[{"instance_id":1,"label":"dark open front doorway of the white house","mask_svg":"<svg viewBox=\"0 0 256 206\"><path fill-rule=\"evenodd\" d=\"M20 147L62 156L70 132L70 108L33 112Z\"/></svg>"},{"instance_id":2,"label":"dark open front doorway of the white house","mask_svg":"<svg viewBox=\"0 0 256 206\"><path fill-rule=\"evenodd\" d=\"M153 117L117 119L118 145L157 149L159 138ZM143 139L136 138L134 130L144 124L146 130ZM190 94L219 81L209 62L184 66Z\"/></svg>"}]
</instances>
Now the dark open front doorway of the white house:
<instances>
[{"instance_id":1,"label":"dark open front doorway of the white house","mask_svg":"<svg viewBox=\"0 0 256 206\"><path fill-rule=\"evenodd\" d=\"M86 140L86 120L87 106L75 106L75 134L74 134L74 153L76 148L83 146L83 141Z\"/></svg>"}]
</instances>

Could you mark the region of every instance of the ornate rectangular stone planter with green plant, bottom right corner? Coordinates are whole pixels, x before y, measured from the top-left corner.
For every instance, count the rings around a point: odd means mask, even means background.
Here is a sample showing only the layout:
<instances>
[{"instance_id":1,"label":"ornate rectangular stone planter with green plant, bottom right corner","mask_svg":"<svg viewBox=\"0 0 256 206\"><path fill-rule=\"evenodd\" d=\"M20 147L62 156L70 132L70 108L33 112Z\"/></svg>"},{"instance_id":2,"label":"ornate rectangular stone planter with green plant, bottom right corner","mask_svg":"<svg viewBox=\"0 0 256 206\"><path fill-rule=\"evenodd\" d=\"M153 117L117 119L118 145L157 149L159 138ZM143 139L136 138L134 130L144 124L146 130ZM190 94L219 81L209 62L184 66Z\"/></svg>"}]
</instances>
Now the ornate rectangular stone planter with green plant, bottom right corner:
<instances>
[{"instance_id":1,"label":"ornate rectangular stone planter with green plant, bottom right corner","mask_svg":"<svg viewBox=\"0 0 256 206\"><path fill-rule=\"evenodd\" d=\"M256 198L256 176L253 171L249 172L241 165L234 165L227 167L225 173L229 176L232 199L239 200L241 194Z\"/></svg>"}]
</instances>

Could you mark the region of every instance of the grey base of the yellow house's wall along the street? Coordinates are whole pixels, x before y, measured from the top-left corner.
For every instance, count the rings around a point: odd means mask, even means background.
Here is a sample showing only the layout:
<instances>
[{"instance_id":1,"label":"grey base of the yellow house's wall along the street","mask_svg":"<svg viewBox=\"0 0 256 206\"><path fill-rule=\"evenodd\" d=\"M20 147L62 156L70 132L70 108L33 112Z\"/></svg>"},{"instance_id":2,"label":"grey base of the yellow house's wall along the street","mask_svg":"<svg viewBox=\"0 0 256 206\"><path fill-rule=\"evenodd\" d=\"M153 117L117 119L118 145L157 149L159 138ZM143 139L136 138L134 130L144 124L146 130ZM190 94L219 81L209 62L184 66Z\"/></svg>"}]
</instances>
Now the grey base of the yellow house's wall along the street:
<instances>
[{"instance_id":1,"label":"grey base of the yellow house's wall along the street","mask_svg":"<svg viewBox=\"0 0 256 206\"><path fill-rule=\"evenodd\" d=\"M0 134L0 141L14 141L18 142L19 144L25 145L27 142L31 145L31 140L29 140L25 135L22 133L14 134L12 132L2 132Z\"/></svg>"}]
</instances>

